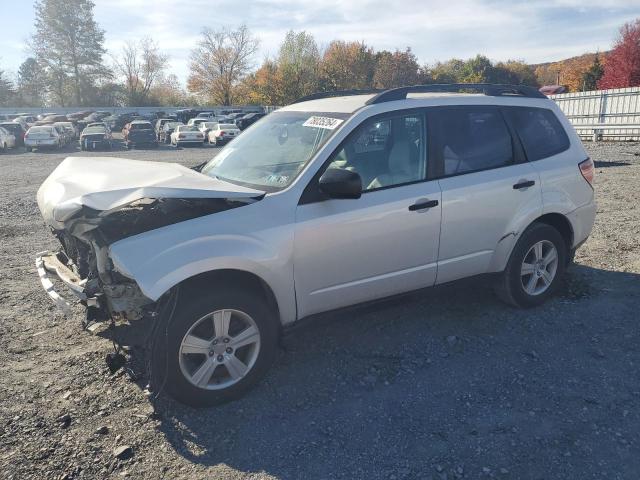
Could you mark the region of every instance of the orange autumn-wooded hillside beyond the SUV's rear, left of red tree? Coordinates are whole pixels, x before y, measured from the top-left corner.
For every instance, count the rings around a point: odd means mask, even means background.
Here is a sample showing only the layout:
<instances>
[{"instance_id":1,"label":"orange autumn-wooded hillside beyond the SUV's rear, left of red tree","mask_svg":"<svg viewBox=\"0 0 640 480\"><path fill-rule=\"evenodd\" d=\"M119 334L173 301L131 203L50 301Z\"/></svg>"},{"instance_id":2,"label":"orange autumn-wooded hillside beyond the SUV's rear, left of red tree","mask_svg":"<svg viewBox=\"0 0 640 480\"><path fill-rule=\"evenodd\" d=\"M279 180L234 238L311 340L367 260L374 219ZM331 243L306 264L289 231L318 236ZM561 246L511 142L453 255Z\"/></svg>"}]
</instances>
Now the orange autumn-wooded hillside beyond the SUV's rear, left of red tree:
<instances>
[{"instance_id":1,"label":"orange autumn-wooded hillside beyond the SUV's rear, left of red tree","mask_svg":"<svg viewBox=\"0 0 640 480\"><path fill-rule=\"evenodd\" d=\"M582 90L582 75L593 65L596 55L604 65L608 54L609 52L585 53L556 62L536 63L530 66L540 85L566 85L570 91L575 92Z\"/></svg>"}]
</instances>

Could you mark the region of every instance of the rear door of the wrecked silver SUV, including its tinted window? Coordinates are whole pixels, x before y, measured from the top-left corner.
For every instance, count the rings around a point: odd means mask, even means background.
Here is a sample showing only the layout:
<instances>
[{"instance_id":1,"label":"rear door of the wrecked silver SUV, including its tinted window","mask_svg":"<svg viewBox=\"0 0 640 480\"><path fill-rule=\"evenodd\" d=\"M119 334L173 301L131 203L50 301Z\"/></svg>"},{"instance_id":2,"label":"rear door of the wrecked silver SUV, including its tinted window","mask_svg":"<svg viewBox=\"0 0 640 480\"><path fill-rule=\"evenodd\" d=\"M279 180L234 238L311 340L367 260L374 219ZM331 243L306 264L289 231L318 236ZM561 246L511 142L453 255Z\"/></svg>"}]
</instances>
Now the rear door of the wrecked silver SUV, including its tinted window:
<instances>
[{"instance_id":1,"label":"rear door of the wrecked silver SUV, including its tinted window","mask_svg":"<svg viewBox=\"0 0 640 480\"><path fill-rule=\"evenodd\" d=\"M437 283L486 273L499 243L522 216L540 215L538 172L524 158L502 110L492 106L430 110L442 190Z\"/></svg>"}]
</instances>

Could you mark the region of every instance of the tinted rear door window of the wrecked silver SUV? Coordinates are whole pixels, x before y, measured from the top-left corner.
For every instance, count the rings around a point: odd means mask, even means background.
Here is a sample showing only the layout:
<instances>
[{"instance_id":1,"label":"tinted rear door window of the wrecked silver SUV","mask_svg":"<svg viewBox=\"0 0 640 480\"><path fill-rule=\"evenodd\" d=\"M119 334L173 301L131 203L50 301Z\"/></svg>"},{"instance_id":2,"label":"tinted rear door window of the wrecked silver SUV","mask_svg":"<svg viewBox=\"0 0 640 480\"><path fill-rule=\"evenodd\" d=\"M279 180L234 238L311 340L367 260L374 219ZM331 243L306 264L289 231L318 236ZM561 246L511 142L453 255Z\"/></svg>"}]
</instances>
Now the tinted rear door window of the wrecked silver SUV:
<instances>
[{"instance_id":1,"label":"tinted rear door window of the wrecked silver SUV","mask_svg":"<svg viewBox=\"0 0 640 480\"><path fill-rule=\"evenodd\" d=\"M445 176L514 163L511 134L497 108L442 108L434 120Z\"/></svg>"}]
</instances>

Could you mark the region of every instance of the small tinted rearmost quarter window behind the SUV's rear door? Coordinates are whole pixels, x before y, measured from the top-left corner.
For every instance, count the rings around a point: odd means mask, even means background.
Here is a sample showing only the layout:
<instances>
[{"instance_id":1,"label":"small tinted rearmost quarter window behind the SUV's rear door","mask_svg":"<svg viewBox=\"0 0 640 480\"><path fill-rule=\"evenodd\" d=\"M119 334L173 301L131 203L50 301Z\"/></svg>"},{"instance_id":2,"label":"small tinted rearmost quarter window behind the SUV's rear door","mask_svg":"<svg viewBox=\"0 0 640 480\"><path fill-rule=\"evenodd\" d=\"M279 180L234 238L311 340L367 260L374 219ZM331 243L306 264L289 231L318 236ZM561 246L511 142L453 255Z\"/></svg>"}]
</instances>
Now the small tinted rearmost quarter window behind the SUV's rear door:
<instances>
[{"instance_id":1,"label":"small tinted rearmost quarter window behind the SUV's rear door","mask_svg":"<svg viewBox=\"0 0 640 480\"><path fill-rule=\"evenodd\" d=\"M508 110L529 161L547 158L569 148L569 137L551 110L523 107Z\"/></svg>"}]
</instances>

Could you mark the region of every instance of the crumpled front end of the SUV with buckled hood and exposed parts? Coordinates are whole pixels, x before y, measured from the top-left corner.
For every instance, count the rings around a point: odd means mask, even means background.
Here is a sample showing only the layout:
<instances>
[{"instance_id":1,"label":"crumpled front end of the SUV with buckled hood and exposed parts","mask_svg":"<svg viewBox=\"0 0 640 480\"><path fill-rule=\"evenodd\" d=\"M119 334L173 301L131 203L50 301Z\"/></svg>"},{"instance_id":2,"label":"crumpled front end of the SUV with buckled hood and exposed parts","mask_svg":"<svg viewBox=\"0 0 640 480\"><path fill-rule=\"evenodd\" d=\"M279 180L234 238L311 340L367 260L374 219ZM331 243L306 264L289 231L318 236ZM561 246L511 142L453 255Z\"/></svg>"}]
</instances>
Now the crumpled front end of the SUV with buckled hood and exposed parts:
<instances>
[{"instance_id":1,"label":"crumpled front end of the SUV with buckled hood and exposed parts","mask_svg":"<svg viewBox=\"0 0 640 480\"><path fill-rule=\"evenodd\" d=\"M135 278L114 267L111 245L248 205L264 194L175 163L69 157L38 190L38 207L62 245L38 255L40 280L67 313L69 304L54 289L56 278L88 307L89 317L139 319L159 299L145 296Z\"/></svg>"}]
</instances>

